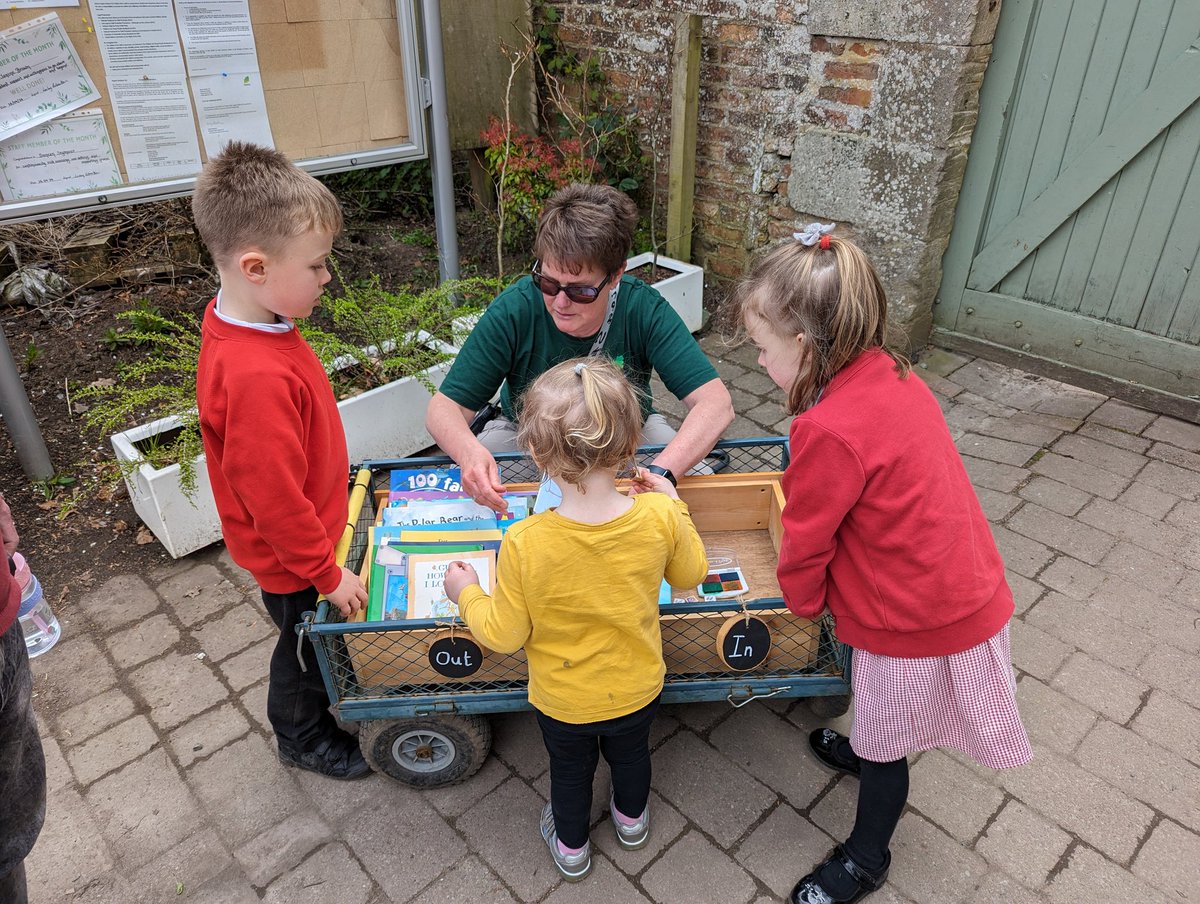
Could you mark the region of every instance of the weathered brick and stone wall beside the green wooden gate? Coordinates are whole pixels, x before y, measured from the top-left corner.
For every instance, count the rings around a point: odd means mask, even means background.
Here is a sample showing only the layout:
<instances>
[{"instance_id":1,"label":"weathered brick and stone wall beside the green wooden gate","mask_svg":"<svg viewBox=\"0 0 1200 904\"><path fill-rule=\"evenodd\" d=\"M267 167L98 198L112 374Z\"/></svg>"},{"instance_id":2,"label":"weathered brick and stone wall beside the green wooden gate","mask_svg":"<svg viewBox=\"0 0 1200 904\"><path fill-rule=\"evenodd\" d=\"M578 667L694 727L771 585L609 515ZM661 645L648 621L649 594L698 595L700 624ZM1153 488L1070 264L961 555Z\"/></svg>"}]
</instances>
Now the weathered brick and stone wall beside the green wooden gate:
<instances>
[{"instance_id":1,"label":"weathered brick and stone wall beside the green wooden gate","mask_svg":"<svg viewBox=\"0 0 1200 904\"><path fill-rule=\"evenodd\" d=\"M671 52L704 17L692 256L710 277L812 220L871 255L929 333L998 0L548 0L559 36L637 106L666 198Z\"/></svg>"}]
</instances>

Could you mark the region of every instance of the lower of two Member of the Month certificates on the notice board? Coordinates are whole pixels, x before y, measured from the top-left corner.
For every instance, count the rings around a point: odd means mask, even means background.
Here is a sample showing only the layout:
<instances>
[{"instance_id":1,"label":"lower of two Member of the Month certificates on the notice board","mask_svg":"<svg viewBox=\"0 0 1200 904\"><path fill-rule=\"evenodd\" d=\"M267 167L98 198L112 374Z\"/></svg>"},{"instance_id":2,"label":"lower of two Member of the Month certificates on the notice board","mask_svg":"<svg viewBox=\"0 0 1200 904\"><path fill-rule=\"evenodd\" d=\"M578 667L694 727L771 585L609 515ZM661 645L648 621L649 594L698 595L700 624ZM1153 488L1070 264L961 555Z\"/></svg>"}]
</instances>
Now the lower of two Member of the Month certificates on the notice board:
<instances>
[{"instance_id":1,"label":"lower of two Member of the Month certificates on the notice board","mask_svg":"<svg viewBox=\"0 0 1200 904\"><path fill-rule=\"evenodd\" d=\"M104 114L79 110L0 142L0 194L23 200L121 184Z\"/></svg>"}]
</instances>

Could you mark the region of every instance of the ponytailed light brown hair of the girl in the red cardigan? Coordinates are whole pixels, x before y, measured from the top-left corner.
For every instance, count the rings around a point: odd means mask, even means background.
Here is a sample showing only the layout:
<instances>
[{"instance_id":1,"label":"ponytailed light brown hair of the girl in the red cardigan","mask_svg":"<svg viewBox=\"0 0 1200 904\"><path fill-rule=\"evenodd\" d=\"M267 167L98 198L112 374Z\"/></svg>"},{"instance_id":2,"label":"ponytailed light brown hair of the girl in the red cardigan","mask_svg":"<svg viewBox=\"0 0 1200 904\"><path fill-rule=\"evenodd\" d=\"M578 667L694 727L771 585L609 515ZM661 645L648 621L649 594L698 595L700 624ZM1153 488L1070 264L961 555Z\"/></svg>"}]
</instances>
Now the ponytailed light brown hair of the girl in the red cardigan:
<instances>
[{"instance_id":1,"label":"ponytailed light brown hair of the girl in the red cardigan","mask_svg":"<svg viewBox=\"0 0 1200 904\"><path fill-rule=\"evenodd\" d=\"M800 372L787 393L787 412L816 405L834 375L869 348L882 348L901 378L908 359L888 347L888 298L862 249L829 237L829 247L786 241L738 286L739 333L750 318L788 339L800 336Z\"/></svg>"}]
</instances>

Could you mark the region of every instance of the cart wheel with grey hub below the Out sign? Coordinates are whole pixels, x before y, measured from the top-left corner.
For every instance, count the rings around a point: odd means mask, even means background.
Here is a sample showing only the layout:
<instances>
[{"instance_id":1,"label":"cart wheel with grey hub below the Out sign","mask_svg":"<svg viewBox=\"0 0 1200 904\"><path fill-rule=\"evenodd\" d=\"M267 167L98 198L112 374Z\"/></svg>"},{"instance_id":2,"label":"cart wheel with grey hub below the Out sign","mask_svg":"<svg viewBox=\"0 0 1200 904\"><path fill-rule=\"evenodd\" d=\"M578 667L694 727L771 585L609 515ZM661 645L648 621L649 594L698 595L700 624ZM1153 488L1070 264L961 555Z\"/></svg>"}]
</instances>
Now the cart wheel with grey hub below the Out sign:
<instances>
[{"instance_id":1,"label":"cart wheel with grey hub below the Out sign","mask_svg":"<svg viewBox=\"0 0 1200 904\"><path fill-rule=\"evenodd\" d=\"M484 716L368 722L359 731L359 746L376 772L406 785L437 788L479 772L492 749L492 725Z\"/></svg>"}]
</instances>

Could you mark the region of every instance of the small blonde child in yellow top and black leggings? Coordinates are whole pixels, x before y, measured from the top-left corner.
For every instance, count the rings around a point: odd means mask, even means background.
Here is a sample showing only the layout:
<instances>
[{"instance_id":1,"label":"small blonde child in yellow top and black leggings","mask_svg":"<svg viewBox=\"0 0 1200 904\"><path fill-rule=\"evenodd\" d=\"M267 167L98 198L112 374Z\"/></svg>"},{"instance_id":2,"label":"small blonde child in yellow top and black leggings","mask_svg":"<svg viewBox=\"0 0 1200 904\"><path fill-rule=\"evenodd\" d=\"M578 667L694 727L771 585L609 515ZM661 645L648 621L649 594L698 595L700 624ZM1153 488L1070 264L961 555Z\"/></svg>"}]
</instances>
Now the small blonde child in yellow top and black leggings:
<instances>
[{"instance_id":1,"label":"small blonde child in yellow top and black leggings","mask_svg":"<svg viewBox=\"0 0 1200 904\"><path fill-rule=\"evenodd\" d=\"M637 849L649 839L649 735L666 671L659 587L664 577L695 587L708 562L666 478L636 469L632 495L617 489L642 419L632 387L611 363L551 367L526 391L520 423L521 444L563 501L509 528L494 597L461 562L450 565L445 589L484 646L524 647L529 702L550 754L541 834L558 870L578 881L592 869L599 754L612 771L617 840Z\"/></svg>"}]
</instances>

